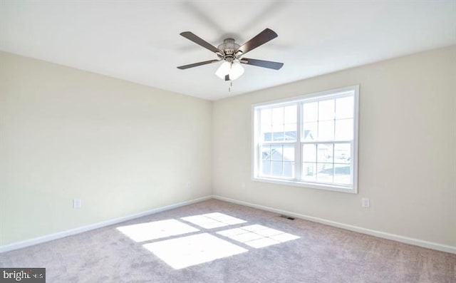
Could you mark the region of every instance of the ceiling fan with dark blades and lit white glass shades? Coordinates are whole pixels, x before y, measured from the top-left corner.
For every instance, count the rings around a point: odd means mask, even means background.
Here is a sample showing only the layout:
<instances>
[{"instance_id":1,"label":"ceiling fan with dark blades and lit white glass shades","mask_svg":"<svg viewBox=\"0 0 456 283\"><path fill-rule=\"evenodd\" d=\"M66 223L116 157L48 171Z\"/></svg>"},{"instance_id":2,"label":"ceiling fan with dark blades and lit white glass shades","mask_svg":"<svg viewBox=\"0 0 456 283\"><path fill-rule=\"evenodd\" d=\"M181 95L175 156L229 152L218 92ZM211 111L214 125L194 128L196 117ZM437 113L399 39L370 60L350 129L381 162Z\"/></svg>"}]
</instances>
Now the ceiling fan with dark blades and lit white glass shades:
<instances>
[{"instance_id":1,"label":"ceiling fan with dark blades and lit white glass shades","mask_svg":"<svg viewBox=\"0 0 456 283\"><path fill-rule=\"evenodd\" d=\"M180 33L180 35L206 49L209 49L217 55L217 59L214 60L202 61L177 67L181 70L223 61L222 65L219 66L215 74L225 81L233 81L244 73L244 68L241 66L241 63L263 68L271 68L274 70L279 70L282 66L284 66L284 63L243 57L247 52L252 51L254 48L257 48L258 46L276 38L277 34L271 29L264 29L264 31L261 31L257 34L257 36L254 36L254 38L250 39L242 46L237 44L236 41L234 41L234 38L226 38L222 44L215 47L190 31L184 31Z\"/></svg>"}]
</instances>

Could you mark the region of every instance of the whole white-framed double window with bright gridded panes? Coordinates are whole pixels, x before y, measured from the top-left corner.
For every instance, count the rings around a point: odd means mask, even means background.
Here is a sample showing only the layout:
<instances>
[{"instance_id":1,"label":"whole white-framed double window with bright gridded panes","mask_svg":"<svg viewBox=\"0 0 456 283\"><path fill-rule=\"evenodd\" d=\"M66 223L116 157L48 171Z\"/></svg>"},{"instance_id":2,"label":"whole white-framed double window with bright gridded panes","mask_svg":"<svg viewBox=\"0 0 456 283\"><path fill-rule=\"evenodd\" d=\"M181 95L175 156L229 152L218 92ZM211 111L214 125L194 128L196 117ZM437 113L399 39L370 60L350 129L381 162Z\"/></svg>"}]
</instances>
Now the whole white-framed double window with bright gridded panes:
<instances>
[{"instance_id":1,"label":"whole white-framed double window with bright gridded panes","mask_svg":"<svg viewBox=\"0 0 456 283\"><path fill-rule=\"evenodd\" d=\"M253 179L357 192L358 86L253 106Z\"/></svg>"}]
</instances>

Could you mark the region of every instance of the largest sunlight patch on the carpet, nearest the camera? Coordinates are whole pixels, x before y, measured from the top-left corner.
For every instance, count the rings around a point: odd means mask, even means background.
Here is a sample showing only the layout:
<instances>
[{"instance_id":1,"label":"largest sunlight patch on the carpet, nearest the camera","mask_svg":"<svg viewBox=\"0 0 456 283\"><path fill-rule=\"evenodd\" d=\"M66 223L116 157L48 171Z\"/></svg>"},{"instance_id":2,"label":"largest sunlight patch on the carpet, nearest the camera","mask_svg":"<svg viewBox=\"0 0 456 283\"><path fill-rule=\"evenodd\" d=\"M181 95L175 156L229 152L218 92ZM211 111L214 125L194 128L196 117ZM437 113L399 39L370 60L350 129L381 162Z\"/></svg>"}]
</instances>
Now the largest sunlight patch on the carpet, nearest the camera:
<instances>
[{"instance_id":1,"label":"largest sunlight patch on the carpet, nearest the camera","mask_svg":"<svg viewBox=\"0 0 456 283\"><path fill-rule=\"evenodd\" d=\"M218 237L202 233L143 245L174 269L211 262L214 259L248 252Z\"/></svg>"}]
</instances>

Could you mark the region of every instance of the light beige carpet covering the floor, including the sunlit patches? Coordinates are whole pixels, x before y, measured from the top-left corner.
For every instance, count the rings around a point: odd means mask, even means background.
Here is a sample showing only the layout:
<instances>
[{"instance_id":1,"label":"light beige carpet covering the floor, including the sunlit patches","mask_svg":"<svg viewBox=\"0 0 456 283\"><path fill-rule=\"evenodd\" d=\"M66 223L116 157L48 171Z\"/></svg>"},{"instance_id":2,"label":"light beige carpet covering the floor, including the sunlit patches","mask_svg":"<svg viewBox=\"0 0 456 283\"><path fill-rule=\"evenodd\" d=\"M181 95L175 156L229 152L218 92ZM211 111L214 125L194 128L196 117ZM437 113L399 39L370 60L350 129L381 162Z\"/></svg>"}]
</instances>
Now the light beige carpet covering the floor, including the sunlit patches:
<instances>
[{"instance_id":1,"label":"light beige carpet covering the floor, including the sunlit patches","mask_svg":"<svg viewBox=\"0 0 456 283\"><path fill-rule=\"evenodd\" d=\"M46 282L456 282L456 254L218 200L6 252L0 267L46 267Z\"/></svg>"}]
</instances>

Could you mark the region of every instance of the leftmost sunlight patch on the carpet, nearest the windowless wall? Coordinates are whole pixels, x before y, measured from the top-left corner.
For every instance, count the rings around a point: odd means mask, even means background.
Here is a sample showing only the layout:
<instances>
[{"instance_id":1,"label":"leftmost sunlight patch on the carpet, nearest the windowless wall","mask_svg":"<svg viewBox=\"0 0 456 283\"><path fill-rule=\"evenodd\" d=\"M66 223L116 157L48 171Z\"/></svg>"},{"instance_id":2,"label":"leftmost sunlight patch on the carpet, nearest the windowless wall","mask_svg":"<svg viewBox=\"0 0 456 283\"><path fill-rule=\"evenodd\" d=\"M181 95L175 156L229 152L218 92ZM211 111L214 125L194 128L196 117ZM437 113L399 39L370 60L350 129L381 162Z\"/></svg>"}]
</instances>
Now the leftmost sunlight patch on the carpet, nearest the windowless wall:
<instances>
[{"instance_id":1,"label":"leftmost sunlight patch on the carpet, nearest the windowless wall","mask_svg":"<svg viewBox=\"0 0 456 283\"><path fill-rule=\"evenodd\" d=\"M135 242L157 240L199 231L195 227L174 219L122 226L117 227L117 230Z\"/></svg>"}]
</instances>

